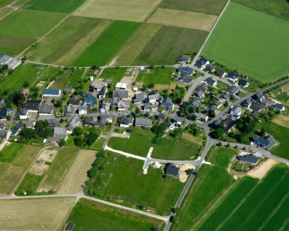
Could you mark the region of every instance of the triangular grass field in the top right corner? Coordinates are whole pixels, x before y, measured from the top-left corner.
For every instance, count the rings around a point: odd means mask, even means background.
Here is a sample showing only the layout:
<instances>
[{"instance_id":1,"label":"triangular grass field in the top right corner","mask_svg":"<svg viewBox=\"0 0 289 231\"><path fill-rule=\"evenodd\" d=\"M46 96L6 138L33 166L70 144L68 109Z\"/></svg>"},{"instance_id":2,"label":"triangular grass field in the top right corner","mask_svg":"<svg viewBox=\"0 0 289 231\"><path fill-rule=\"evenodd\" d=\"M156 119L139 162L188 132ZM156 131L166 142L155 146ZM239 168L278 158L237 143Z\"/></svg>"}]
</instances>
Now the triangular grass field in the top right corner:
<instances>
[{"instance_id":1,"label":"triangular grass field in the top right corner","mask_svg":"<svg viewBox=\"0 0 289 231\"><path fill-rule=\"evenodd\" d=\"M247 6L253 10L270 14L279 19L289 21L289 4L287 1L279 0L233 0L233 2L239 3L240 5Z\"/></svg>"}]
</instances>

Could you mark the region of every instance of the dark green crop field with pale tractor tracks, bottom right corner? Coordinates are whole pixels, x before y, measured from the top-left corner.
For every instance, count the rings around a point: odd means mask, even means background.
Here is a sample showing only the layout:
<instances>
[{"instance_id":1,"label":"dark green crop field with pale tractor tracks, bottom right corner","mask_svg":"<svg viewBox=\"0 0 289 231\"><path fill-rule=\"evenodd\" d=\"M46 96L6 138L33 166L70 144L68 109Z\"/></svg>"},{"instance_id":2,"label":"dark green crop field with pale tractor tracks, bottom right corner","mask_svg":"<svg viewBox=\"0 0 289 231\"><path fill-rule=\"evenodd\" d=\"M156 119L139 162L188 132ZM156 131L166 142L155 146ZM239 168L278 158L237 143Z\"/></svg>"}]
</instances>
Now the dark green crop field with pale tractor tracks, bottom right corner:
<instances>
[{"instance_id":1,"label":"dark green crop field with pale tractor tracks, bottom right corner","mask_svg":"<svg viewBox=\"0 0 289 231\"><path fill-rule=\"evenodd\" d=\"M283 230L288 222L289 169L275 165L256 185L245 179L193 230ZM252 203L254 200L255 203Z\"/></svg>"}]
</instances>

